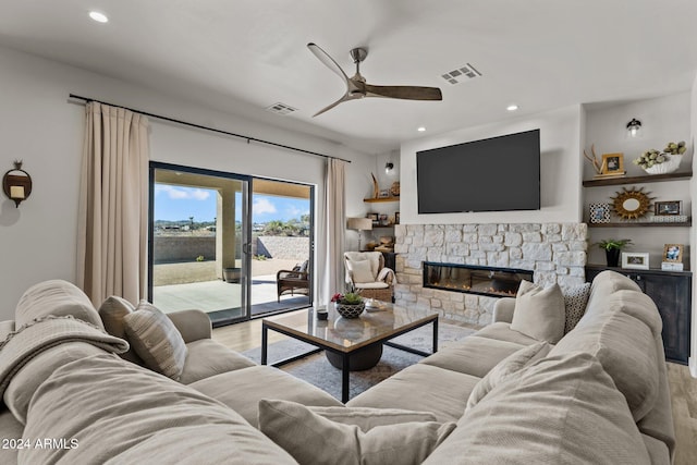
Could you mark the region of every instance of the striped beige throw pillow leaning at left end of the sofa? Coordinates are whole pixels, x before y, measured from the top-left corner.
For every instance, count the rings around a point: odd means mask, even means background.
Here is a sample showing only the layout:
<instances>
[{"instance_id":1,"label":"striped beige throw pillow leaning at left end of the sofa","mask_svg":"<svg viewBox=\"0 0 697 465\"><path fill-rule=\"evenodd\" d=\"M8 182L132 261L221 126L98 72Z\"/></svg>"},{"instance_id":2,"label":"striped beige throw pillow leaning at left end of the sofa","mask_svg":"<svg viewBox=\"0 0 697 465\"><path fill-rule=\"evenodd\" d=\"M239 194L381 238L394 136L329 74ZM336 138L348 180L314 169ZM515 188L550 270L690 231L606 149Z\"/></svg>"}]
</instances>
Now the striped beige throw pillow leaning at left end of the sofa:
<instances>
[{"instance_id":1,"label":"striped beige throw pillow leaning at left end of the sofa","mask_svg":"<svg viewBox=\"0 0 697 465\"><path fill-rule=\"evenodd\" d=\"M129 342L145 366L179 380L186 362L186 343L172 320L146 301L123 318Z\"/></svg>"}]
</instances>

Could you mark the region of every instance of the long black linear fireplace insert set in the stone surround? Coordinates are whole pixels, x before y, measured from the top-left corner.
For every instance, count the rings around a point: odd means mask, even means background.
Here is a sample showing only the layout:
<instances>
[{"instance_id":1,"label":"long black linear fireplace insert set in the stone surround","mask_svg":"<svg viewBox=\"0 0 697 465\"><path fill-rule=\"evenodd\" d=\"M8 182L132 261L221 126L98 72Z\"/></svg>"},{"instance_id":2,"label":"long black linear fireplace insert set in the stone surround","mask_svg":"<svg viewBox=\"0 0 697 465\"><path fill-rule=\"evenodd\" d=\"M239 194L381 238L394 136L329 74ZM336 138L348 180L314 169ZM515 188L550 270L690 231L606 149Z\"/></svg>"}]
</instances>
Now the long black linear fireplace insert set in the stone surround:
<instances>
[{"instance_id":1,"label":"long black linear fireplace insert set in the stone surround","mask_svg":"<svg viewBox=\"0 0 697 465\"><path fill-rule=\"evenodd\" d=\"M533 281L533 271L424 261L424 287L515 297L522 280Z\"/></svg>"}]
</instances>

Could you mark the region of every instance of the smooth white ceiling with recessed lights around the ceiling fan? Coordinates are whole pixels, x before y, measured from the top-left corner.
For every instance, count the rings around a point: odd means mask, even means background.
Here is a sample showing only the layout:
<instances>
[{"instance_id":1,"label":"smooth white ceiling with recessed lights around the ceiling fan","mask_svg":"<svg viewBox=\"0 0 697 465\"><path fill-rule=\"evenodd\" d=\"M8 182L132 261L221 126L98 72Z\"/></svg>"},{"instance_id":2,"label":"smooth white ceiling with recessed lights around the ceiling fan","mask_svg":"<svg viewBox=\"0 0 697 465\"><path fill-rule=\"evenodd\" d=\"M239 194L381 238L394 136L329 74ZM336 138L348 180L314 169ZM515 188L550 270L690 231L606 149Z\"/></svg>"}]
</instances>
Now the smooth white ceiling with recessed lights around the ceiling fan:
<instances>
[{"instance_id":1,"label":"smooth white ceiling with recessed lights around the ceiling fan","mask_svg":"<svg viewBox=\"0 0 697 465\"><path fill-rule=\"evenodd\" d=\"M443 101L371 98L311 118L344 85L309 41L348 75L348 50L366 47L368 83L438 86ZM379 152L421 136L420 125L432 135L687 90L697 1L2 0L0 45ZM482 76L440 77L465 63ZM298 111L264 111L276 102ZM516 113L505 110L513 102Z\"/></svg>"}]
</instances>

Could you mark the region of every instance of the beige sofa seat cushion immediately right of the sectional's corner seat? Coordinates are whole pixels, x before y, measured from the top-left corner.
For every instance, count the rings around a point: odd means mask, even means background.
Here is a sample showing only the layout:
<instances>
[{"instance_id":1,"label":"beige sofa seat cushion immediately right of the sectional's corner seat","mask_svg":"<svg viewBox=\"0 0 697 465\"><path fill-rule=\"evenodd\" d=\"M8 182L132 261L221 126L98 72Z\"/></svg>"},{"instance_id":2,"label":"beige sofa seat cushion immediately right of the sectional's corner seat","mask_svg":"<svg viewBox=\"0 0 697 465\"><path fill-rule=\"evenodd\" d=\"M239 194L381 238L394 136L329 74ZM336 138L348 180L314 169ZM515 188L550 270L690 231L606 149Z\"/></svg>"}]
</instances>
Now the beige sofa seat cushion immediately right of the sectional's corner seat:
<instances>
[{"instance_id":1,"label":"beige sofa seat cushion immediately right of the sectional's corner seat","mask_svg":"<svg viewBox=\"0 0 697 465\"><path fill-rule=\"evenodd\" d=\"M346 402L348 407L430 412L438 421L456 421L479 378L426 364L407 367Z\"/></svg>"}]
</instances>

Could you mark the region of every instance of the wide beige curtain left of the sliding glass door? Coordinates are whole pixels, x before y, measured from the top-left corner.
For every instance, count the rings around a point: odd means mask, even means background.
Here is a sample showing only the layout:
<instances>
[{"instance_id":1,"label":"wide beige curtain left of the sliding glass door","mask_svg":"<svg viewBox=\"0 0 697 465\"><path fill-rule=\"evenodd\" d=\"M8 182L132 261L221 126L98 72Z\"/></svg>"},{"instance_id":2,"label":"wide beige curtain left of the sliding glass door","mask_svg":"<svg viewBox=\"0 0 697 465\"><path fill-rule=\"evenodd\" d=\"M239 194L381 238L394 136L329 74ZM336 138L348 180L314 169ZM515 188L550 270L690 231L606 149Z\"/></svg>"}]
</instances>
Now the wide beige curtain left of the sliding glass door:
<instances>
[{"instance_id":1,"label":"wide beige curtain left of the sliding glass door","mask_svg":"<svg viewBox=\"0 0 697 465\"><path fill-rule=\"evenodd\" d=\"M80 188L77 285L95 306L144 298L147 267L148 120L86 105Z\"/></svg>"}]
</instances>

